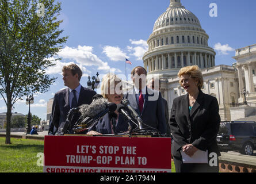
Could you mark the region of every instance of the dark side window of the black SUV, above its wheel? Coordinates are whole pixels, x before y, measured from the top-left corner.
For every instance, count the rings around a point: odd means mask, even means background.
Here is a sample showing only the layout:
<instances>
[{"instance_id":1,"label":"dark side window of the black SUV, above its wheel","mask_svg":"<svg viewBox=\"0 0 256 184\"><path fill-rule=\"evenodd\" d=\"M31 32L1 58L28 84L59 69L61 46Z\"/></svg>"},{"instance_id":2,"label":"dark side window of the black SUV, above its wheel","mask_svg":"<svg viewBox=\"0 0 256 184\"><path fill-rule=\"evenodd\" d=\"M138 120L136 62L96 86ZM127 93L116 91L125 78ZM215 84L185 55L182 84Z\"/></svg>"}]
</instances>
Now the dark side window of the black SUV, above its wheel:
<instances>
[{"instance_id":1,"label":"dark side window of the black SUV, above its wheel","mask_svg":"<svg viewBox=\"0 0 256 184\"><path fill-rule=\"evenodd\" d=\"M234 123L231 124L232 135L234 136L251 136L254 134L253 124L251 123Z\"/></svg>"}]
</instances>

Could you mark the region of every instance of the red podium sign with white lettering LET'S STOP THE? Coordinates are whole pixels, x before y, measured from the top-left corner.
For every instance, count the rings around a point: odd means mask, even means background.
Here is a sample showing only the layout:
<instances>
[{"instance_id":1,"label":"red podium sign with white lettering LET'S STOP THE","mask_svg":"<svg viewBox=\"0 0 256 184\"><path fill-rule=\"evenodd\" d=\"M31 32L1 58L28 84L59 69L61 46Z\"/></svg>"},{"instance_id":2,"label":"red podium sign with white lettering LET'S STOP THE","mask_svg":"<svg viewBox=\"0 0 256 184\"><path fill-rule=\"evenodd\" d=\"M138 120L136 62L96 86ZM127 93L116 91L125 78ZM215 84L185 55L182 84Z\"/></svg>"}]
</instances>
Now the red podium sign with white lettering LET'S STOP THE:
<instances>
[{"instance_id":1,"label":"red podium sign with white lettering LET'S STOP THE","mask_svg":"<svg viewBox=\"0 0 256 184\"><path fill-rule=\"evenodd\" d=\"M45 136L44 173L170 173L171 139Z\"/></svg>"}]
</instances>

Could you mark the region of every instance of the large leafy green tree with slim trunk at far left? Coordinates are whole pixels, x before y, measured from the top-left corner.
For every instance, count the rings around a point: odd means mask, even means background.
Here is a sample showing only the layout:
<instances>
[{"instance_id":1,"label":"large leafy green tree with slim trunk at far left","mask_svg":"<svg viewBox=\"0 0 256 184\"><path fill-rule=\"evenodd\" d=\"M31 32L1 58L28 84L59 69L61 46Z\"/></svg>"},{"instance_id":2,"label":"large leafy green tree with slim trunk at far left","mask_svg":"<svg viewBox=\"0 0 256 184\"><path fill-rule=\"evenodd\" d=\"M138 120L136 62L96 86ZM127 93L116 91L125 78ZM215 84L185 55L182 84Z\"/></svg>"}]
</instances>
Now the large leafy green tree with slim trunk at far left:
<instances>
[{"instance_id":1,"label":"large leafy green tree with slim trunk at far left","mask_svg":"<svg viewBox=\"0 0 256 184\"><path fill-rule=\"evenodd\" d=\"M45 74L63 47L61 10L55 0L0 0L0 94L7 106L6 144L12 107L25 95L48 91L56 78Z\"/></svg>"}]
</instances>

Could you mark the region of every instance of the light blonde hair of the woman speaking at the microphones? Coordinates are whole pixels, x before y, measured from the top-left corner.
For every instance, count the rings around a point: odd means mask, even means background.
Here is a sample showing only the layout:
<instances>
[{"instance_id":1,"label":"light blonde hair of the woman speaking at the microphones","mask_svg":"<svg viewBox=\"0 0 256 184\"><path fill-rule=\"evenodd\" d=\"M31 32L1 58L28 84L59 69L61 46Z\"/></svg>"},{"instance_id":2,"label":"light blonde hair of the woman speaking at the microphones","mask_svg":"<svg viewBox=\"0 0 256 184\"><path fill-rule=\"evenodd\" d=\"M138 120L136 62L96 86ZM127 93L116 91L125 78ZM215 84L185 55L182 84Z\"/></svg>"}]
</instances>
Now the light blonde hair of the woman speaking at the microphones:
<instances>
[{"instance_id":1,"label":"light blonde hair of the woman speaking at the microphones","mask_svg":"<svg viewBox=\"0 0 256 184\"><path fill-rule=\"evenodd\" d=\"M112 94L112 92L114 92L113 87L115 90L116 85L119 83L120 83L120 89L121 89L122 87L121 79L116 74L112 74L112 73L106 74L102 78L102 82L101 82L101 95L104 98L106 98L106 94L109 94L109 89L110 89L110 94ZM123 94L123 91L120 91L120 92Z\"/></svg>"}]
</instances>

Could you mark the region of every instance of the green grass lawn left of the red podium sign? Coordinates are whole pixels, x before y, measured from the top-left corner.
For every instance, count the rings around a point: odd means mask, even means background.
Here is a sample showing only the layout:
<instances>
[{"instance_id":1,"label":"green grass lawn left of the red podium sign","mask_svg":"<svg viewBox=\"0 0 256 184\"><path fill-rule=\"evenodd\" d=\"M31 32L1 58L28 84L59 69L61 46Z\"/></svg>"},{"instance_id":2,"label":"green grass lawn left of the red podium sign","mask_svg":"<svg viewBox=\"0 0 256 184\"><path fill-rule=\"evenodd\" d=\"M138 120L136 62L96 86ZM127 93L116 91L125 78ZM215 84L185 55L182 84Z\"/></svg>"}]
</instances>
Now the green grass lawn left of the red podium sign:
<instances>
[{"instance_id":1,"label":"green grass lawn left of the red podium sign","mask_svg":"<svg viewBox=\"0 0 256 184\"><path fill-rule=\"evenodd\" d=\"M0 137L0 173L41 173L37 166L37 154L44 152L43 140L11 138L12 144L5 144Z\"/></svg>"}]
</instances>

